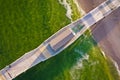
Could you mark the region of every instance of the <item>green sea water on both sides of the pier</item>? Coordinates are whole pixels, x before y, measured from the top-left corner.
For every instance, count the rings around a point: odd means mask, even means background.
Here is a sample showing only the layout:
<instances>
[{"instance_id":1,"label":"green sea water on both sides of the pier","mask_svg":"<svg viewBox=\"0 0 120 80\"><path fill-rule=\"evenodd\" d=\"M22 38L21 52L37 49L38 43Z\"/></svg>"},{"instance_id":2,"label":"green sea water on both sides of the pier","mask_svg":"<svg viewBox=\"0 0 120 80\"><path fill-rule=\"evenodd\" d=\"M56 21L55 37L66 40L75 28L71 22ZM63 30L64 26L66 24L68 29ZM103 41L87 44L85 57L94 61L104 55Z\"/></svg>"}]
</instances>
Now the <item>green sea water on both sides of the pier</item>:
<instances>
[{"instance_id":1,"label":"green sea water on both sides of the pier","mask_svg":"<svg viewBox=\"0 0 120 80\"><path fill-rule=\"evenodd\" d=\"M72 9L75 20L80 15L76 7ZM0 69L70 23L65 13L58 0L0 0ZM76 68L83 55L89 55L89 59L82 61L82 68ZM60 54L14 80L119 80L119 77L113 63L103 57L87 31Z\"/></svg>"}]
</instances>

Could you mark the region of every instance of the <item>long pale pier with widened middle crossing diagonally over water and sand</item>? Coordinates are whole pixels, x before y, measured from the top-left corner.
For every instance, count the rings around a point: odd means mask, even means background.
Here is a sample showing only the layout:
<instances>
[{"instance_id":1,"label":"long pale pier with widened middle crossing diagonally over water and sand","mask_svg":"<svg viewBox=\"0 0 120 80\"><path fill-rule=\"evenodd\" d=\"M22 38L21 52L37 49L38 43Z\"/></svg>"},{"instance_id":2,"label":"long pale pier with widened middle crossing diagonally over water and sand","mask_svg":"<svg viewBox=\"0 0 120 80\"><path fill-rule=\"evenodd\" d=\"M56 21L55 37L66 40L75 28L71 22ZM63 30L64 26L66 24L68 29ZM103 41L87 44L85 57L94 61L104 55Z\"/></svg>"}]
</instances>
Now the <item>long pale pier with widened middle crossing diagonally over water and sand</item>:
<instances>
[{"instance_id":1,"label":"long pale pier with widened middle crossing diagonally over water and sand","mask_svg":"<svg viewBox=\"0 0 120 80\"><path fill-rule=\"evenodd\" d=\"M120 2L118 0L107 0L103 2L81 19L60 29L36 49L26 53L2 69L0 71L0 80L12 80L36 64L57 55L78 39L90 26L109 15L119 6Z\"/></svg>"}]
</instances>

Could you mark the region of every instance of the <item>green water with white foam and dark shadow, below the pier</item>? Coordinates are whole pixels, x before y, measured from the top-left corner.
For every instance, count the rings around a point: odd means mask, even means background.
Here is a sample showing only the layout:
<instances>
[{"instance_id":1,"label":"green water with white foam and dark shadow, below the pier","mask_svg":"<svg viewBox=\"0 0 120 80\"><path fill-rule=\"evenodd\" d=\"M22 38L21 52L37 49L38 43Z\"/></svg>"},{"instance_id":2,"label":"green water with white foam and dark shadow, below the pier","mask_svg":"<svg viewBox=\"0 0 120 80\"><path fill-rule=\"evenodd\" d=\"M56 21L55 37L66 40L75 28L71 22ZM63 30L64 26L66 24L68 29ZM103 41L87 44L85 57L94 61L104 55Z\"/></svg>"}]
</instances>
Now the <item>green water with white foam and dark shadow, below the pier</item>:
<instances>
[{"instance_id":1,"label":"green water with white foam and dark shadow, below the pier","mask_svg":"<svg viewBox=\"0 0 120 80\"><path fill-rule=\"evenodd\" d=\"M96 43L87 35L15 80L116 80L99 48L95 48Z\"/></svg>"}]
</instances>

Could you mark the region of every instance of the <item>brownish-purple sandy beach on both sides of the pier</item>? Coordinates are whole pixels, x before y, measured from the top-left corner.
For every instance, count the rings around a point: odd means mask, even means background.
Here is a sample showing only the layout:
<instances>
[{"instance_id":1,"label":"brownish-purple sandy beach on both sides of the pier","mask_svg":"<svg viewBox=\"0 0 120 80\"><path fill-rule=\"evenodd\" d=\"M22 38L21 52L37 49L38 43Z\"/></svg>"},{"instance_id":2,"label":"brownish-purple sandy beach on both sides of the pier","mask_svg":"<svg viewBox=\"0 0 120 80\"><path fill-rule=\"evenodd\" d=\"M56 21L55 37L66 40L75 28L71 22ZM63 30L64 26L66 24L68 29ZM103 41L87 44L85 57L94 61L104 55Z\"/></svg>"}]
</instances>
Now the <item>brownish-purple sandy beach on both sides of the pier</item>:
<instances>
[{"instance_id":1,"label":"brownish-purple sandy beach on both sides of the pier","mask_svg":"<svg viewBox=\"0 0 120 80\"><path fill-rule=\"evenodd\" d=\"M82 9L88 13L105 0L78 0ZM95 41L105 55L117 62L120 69L120 8L92 26Z\"/></svg>"}]
</instances>

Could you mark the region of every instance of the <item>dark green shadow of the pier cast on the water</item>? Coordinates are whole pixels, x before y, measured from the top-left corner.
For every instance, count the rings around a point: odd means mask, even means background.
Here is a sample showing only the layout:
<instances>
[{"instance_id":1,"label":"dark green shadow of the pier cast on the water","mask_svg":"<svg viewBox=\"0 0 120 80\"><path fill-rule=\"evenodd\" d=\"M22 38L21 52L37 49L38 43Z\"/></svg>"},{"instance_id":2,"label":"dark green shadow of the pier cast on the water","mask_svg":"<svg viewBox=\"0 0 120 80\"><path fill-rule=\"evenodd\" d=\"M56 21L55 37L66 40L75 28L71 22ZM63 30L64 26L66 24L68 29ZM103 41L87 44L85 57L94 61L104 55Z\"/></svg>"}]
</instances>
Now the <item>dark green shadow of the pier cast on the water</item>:
<instances>
[{"instance_id":1,"label":"dark green shadow of the pier cast on the water","mask_svg":"<svg viewBox=\"0 0 120 80\"><path fill-rule=\"evenodd\" d=\"M96 45L90 35L81 36L60 54L41 62L14 80L71 80L70 69Z\"/></svg>"}]
</instances>

